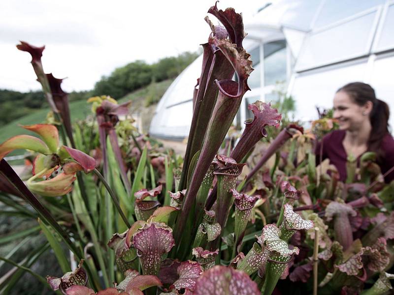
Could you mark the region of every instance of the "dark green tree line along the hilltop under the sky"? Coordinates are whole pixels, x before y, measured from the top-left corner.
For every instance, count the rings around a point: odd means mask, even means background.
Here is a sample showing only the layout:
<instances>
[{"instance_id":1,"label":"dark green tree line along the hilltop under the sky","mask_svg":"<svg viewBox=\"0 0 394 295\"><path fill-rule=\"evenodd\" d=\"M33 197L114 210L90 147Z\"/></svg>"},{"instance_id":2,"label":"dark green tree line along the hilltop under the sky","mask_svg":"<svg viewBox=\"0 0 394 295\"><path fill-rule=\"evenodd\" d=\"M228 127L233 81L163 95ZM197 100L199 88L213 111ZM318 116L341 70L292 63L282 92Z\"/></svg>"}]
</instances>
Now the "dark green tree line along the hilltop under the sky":
<instances>
[{"instance_id":1,"label":"dark green tree line along the hilltop under the sky","mask_svg":"<svg viewBox=\"0 0 394 295\"><path fill-rule=\"evenodd\" d=\"M102 76L94 89L70 92L69 101L87 99L96 95L122 98L129 92L153 82L175 78L198 55L197 52L184 52L176 57L159 59L153 64L148 64L143 60L130 62L116 68L110 75ZM46 107L46 99L42 91L19 92L0 89L0 126L42 107Z\"/></svg>"}]
</instances>

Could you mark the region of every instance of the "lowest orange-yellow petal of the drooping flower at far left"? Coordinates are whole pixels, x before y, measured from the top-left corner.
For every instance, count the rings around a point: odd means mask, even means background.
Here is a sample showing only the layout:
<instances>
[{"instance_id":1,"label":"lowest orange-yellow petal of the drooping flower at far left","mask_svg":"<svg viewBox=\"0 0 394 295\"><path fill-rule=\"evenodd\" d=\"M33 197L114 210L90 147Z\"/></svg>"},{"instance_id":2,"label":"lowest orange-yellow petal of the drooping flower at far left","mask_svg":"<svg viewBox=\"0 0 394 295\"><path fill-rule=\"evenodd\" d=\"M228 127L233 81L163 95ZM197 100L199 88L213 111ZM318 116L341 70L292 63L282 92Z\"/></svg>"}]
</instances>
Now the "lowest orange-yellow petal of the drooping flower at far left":
<instances>
[{"instance_id":1,"label":"lowest orange-yellow petal of the drooping flower at far left","mask_svg":"<svg viewBox=\"0 0 394 295\"><path fill-rule=\"evenodd\" d=\"M28 182L27 186L32 192L41 196L58 197L71 191L75 179L75 174L60 173L48 180Z\"/></svg>"}]
</instances>

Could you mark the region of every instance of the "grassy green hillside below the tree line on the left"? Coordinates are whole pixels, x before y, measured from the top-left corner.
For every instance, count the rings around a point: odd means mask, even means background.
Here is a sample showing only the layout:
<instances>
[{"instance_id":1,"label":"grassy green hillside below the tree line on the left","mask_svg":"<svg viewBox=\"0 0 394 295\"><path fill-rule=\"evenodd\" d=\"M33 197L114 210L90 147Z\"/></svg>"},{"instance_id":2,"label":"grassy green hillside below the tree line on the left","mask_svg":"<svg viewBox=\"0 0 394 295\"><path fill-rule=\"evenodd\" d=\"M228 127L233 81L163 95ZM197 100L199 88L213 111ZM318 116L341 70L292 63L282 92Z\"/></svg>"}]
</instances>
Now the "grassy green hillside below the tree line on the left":
<instances>
[{"instance_id":1,"label":"grassy green hillside below the tree line on the left","mask_svg":"<svg viewBox=\"0 0 394 295\"><path fill-rule=\"evenodd\" d=\"M170 86L173 79L168 79L158 83L152 83L146 87L135 90L128 95L122 97L119 102L125 102L127 100L131 100L131 114L133 113L146 113L146 109L149 110L149 114L153 114L156 104L154 102L159 101L159 99L163 96L165 90ZM146 107L146 102L150 101L153 103L149 107ZM29 131L18 127L18 125L29 125L40 123L45 120L47 113L49 112L49 108L40 109L34 111L32 114L28 116L24 116L22 118L18 118L0 128L0 143L5 141L6 139L19 135L19 134L32 134ZM71 120L75 122L78 119L85 118L87 115L91 114L90 104L88 104L85 100L73 101L70 103L70 113ZM151 115L152 116L152 115ZM148 121L147 121L148 119ZM144 116L143 124L149 126L150 117L146 118ZM13 154L20 154L15 152Z\"/></svg>"}]
</instances>

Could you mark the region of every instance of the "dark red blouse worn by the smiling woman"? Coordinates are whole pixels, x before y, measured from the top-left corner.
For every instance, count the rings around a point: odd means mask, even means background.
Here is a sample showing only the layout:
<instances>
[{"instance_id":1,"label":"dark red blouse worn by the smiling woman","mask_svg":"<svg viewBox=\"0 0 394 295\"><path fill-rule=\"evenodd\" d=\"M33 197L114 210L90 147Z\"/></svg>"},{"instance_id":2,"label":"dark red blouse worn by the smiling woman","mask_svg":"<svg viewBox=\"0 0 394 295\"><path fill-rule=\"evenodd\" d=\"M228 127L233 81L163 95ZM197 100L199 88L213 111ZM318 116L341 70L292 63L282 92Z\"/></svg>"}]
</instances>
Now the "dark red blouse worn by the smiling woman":
<instances>
[{"instance_id":1,"label":"dark red blouse worn by the smiling woman","mask_svg":"<svg viewBox=\"0 0 394 295\"><path fill-rule=\"evenodd\" d=\"M346 158L347 154L343 147L342 141L345 138L345 130L335 130L323 137L315 147L316 163L320 161L320 149L323 142L323 157L322 159L329 159L339 172L341 181L346 180ZM387 133L383 138L380 146L383 152L383 161L378 162L382 174L385 174L390 168L394 166L394 139ZM358 158L360 160L360 157ZM385 182L390 182L394 179L394 171L385 177Z\"/></svg>"}]
</instances>

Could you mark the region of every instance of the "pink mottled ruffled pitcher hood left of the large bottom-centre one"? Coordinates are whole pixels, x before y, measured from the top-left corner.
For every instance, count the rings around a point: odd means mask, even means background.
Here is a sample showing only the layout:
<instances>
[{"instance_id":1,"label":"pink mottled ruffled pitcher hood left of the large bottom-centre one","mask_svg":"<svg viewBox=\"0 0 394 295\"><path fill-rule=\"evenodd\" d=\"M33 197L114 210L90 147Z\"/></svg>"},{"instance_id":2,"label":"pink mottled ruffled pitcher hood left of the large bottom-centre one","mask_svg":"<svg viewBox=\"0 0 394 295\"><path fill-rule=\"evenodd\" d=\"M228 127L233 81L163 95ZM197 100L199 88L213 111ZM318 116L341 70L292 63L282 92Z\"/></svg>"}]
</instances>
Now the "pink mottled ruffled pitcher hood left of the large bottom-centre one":
<instances>
[{"instance_id":1,"label":"pink mottled ruffled pitcher hood left of the large bottom-centre one","mask_svg":"<svg viewBox=\"0 0 394 295\"><path fill-rule=\"evenodd\" d=\"M174 282L175 289L193 291L197 279L202 274L202 268L196 261L188 260L178 266L177 273L179 278Z\"/></svg>"}]
</instances>

